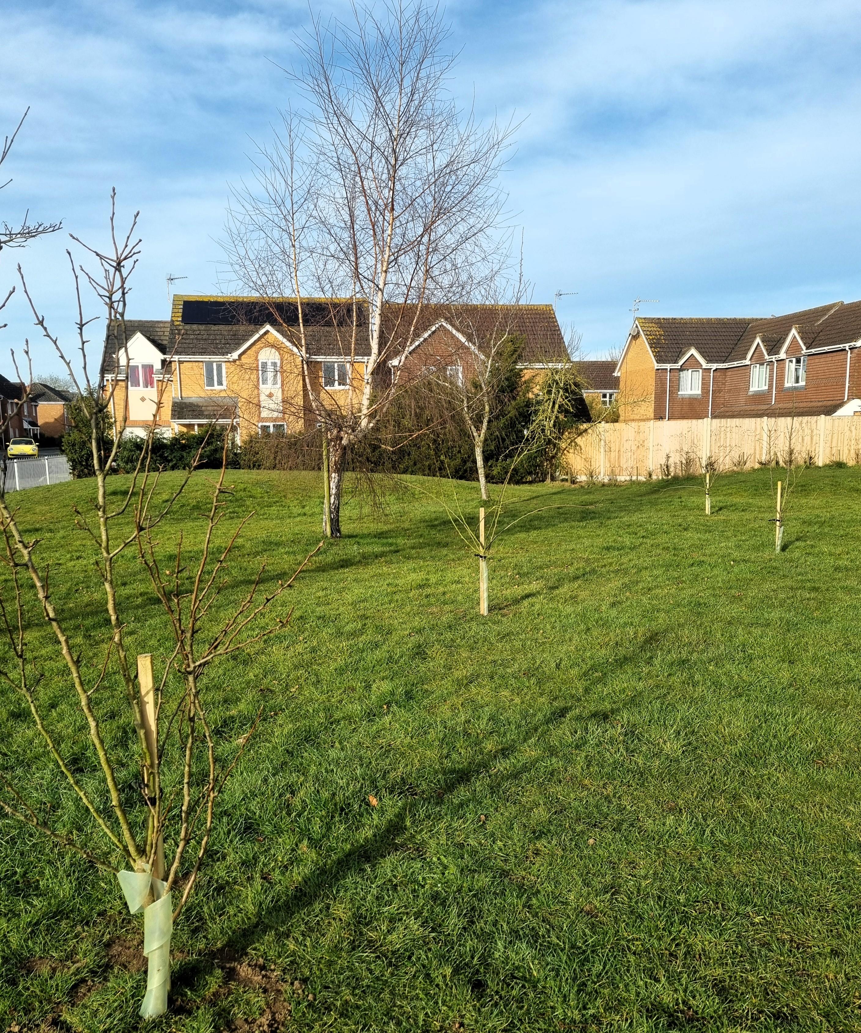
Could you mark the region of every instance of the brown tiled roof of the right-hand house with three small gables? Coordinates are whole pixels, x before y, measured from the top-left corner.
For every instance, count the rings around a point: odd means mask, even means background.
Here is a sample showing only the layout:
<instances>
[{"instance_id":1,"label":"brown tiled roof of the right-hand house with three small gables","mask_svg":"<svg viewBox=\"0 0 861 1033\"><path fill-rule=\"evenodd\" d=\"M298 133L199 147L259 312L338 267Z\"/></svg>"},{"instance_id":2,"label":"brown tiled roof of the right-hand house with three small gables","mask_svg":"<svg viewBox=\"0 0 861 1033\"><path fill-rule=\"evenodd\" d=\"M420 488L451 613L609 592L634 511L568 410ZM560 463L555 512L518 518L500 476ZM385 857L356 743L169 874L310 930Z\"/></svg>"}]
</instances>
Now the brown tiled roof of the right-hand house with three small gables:
<instances>
[{"instance_id":1,"label":"brown tiled roof of the right-hand house with three small gables","mask_svg":"<svg viewBox=\"0 0 861 1033\"><path fill-rule=\"evenodd\" d=\"M741 363L759 337L769 355L795 327L805 348L837 348L861 340L861 302L832 302L783 316L753 319L637 320L659 364L678 363L696 348L706 363Z\"/></svg>"}]
</instances>

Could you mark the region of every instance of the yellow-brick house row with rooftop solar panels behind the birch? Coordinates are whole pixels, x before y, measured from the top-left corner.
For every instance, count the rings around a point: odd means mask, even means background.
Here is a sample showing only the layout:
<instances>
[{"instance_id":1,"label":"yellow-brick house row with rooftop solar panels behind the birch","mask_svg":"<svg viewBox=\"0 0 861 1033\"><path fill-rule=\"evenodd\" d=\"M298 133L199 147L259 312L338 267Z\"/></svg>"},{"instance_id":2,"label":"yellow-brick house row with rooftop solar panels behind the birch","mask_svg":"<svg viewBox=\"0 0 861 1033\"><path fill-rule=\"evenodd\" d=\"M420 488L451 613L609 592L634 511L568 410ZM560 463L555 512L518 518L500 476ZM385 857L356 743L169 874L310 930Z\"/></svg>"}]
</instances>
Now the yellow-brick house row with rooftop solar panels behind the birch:
<instances>
[{"instance_id":1,"label":"yellow-brick house row with rooftop solar panels behind the birch","mask_svg":"<svg viewBox=\"0 0 861 1033\"><path fill-rule=\"evenodd\" d=\"M350 388L361 388L369 355L366 310L359 307L359 333L351 345L350 300L304 301L306 338L311 349L311 388L324 404L348 404ZM277 318L276 318L277 316ZM428 366L469 377L481 336L505 321L523 341L520 366L527 374L568 361L565 340L549 305L389 306L384 312L386 355L376 375L381 385L403 361L409 379ZM413 327L413 321L416 325ZM181 295L170 318L127 320L125 356L117 362L115 328L105 339L108 385L116 382L114 417L126 408L127 433L145 435L155 426L165 434L194 431L235 420L240 441L263 433L312 429L316 416L308 399L297 345L295 301ZM414 341L398 343L409 328Z\"/></svg>"}]
</instances>

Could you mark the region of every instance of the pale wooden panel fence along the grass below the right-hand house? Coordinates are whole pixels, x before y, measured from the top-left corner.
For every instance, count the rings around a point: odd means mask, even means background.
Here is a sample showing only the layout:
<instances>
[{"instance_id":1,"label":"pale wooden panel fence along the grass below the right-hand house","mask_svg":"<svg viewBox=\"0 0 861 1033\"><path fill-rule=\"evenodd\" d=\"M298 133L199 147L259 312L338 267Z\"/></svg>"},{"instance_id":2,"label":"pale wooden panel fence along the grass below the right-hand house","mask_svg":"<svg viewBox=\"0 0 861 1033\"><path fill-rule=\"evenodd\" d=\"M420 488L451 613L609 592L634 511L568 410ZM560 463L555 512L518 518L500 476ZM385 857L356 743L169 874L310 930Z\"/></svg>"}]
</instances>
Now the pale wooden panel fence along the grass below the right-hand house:
<instances>
[{"instance_id":1,"label":"pale wooden panel fence along the grass below the right-hand house","mask_svg":"<svg viewBox=\"0 0 861 1033\"><path fill-rule=\"evenodd\" d=\"M762 464L861 464L861 416L762 416L745 419L644 419L596 424L566 449L563 473L634 480Z\"/></svg>"}]
</instances>

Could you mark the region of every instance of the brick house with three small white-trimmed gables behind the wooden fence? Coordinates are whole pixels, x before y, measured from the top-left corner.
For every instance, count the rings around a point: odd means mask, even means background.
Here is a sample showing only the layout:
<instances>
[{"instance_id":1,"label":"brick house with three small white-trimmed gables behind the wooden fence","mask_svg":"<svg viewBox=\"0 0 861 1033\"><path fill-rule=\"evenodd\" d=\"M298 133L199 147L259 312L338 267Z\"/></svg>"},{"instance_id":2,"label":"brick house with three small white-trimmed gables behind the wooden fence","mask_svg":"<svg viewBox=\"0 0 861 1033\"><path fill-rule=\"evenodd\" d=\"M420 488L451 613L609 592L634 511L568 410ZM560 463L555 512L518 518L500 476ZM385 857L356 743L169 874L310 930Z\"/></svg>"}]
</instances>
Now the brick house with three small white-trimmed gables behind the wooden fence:
<instances>
[{"instance_id":1,"label":"brick house with three small white-trimmed gables behind the wooden fence","mask_svg":"<svg viewBox=\"0 0 861 1033\"><path fill-rule=\"evenodd\" d=\"M861 302L762 319L638 316L623 420L861 413Z\"/></svg>"}]
</instances>

